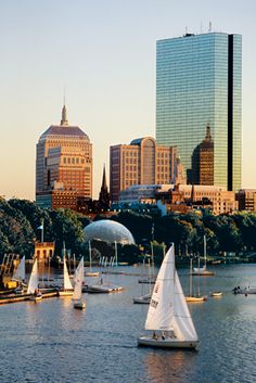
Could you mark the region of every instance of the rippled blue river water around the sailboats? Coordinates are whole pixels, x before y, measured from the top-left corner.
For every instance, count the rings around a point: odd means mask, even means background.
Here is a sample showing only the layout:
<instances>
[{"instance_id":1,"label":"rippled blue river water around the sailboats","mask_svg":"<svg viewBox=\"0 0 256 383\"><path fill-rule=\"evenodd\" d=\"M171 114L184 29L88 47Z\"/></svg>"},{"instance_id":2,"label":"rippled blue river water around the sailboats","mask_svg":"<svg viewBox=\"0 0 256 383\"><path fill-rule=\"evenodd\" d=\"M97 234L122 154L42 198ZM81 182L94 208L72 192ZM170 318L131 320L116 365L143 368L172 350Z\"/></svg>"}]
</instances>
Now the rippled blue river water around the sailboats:
<instances>
[{"instance_id":1,"label":"rippled blue river water around the sailboats","mask_svg":"<svg viewBox=\"0 0 256 383\"><path fill-rule=\"evenodd\" d=\"M137 347L149 306L132 304L141 293L136 276L107 277L126 291L85 294L85 311L68 297L0 306L0 382L255 383L256 295L231 290L256 286L256 265L215 270L215 277L200 278L201 293L221 290L223 296L189 306L197 352ZM187 291L188 269L178 271Z\"/></svg>"}]
</instances>

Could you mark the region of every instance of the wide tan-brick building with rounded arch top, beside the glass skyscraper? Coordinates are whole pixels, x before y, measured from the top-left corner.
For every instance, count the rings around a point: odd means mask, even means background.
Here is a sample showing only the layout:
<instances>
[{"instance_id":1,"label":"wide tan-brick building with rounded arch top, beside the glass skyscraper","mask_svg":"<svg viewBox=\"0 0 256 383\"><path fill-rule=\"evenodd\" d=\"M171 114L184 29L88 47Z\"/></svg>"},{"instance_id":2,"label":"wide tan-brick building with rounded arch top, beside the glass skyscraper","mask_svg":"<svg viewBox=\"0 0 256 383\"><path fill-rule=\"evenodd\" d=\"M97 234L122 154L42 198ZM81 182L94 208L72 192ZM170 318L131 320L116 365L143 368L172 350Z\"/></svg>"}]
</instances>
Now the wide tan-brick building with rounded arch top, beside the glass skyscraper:
<instances>
[{"instance_id":1,"label":"wide tan-brick building with rounded arch top, beside the glass skyscraper","mask_svg":"<svg viewBox=\"0 0 256 383\"><path fill-rule=\"evenodd\" d=\"M132 184L171 183L176 174L175 146L156 144L152 137L111 146L111 201L119 201L119 192Z\"/></svg>"}]
</instances>

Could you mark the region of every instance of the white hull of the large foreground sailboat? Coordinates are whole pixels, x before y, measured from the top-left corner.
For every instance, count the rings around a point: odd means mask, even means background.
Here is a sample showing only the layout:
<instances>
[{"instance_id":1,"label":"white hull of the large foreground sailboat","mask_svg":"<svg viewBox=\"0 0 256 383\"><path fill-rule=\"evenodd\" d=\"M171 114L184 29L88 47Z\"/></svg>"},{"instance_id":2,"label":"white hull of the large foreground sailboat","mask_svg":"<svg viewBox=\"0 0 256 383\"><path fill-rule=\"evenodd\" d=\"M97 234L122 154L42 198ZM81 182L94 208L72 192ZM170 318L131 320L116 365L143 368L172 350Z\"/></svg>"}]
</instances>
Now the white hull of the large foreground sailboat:
<instances>
[{"instance_id":1,"label":"white hull of the large foreground sailboat","mask_svg":"<svg viewBox=\"0 0 256 383\"><path fill-rule=\"evenodd\" d=\"M138 340L139 346L159 347L159 348L190 348L194 349L199 341L178 341L177 339L167 337L166 340L154 340L151 336L141 336Z\"/></svg>"}]
</instances>

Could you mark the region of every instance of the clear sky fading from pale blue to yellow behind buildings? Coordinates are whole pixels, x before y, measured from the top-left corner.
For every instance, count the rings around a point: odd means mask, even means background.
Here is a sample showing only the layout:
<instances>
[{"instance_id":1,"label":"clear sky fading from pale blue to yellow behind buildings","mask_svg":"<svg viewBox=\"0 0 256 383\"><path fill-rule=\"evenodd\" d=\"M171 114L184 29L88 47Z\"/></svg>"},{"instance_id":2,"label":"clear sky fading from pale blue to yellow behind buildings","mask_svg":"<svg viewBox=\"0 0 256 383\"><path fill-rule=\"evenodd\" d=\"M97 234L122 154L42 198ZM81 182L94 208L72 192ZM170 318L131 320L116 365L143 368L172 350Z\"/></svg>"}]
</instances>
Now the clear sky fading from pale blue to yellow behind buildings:
<instances>
[{"instance_id":1,"label":"clear sky fading from pale blue to yellow behind buildings","mask_svg":"<svg viewBox=\"0 0 256 383\"><path fill-rule=\"evenodd\" d=\"M155 137L156 40L243 38L242 187L256 188L256 1L0 0L0 195L35 200L36 143L68 120L93 145L93 197L110 146Z\"/></svg>"}]
</instances>

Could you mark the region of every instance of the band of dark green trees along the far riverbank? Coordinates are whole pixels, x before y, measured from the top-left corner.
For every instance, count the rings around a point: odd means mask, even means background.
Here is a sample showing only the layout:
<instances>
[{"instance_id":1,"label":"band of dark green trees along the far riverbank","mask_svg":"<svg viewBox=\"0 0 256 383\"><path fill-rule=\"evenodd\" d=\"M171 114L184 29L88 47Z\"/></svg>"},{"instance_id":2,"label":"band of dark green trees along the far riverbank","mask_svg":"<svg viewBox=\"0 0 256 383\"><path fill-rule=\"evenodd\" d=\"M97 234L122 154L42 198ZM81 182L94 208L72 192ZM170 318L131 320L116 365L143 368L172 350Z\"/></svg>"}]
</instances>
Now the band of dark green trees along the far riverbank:
<instances>
[{"instance_id":1,"label":"band of dark green trees along the far riverbank","mask_svg":"<svg viewBox=\"0 0 256 383\"><path fill-rule=\"evenodd\" d=\"M99 216L95 219L103 218ZM155 217L124 212L111 219L125 225L136 243L145 244L148 248L151 241L166 246L174 242L177 254L202 254L203 238L206 235L207 253L213 256L222 252L256 251L254 213L219 216L189 213ZM39 227L42 221L43 239L55 242L55 255L61 254L63 241L72 254L86 251L84 228L91 222L88 217L71 209L41 209L26 200L0 199L0 257L8 253L31 256L35 241L41 238Z\"/></svg>"}]
</instances>

